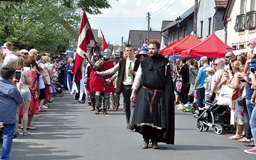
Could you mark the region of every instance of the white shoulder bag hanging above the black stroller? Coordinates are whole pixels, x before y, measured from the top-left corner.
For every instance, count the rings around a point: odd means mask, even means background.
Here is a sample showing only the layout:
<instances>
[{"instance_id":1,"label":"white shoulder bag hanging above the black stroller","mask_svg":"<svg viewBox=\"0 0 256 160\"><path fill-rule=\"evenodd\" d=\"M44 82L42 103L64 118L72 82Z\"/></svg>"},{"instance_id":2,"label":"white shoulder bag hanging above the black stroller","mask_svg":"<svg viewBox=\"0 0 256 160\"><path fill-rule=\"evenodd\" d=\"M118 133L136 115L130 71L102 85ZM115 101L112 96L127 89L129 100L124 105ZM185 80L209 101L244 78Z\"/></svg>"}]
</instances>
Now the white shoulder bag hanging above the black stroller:
<instances>
[{"instance_id":1,"label":"white shoulder bag hanging above the black stroller","mask_svg":"<svg viewBox=\"0 0 256 160\"><path fill-rule=\"evenodd\" d=\"M231 103L233 89L227 85L221 86L220 95L217 100L218 105L229 106Z\"/></svg>"}]
</instances>

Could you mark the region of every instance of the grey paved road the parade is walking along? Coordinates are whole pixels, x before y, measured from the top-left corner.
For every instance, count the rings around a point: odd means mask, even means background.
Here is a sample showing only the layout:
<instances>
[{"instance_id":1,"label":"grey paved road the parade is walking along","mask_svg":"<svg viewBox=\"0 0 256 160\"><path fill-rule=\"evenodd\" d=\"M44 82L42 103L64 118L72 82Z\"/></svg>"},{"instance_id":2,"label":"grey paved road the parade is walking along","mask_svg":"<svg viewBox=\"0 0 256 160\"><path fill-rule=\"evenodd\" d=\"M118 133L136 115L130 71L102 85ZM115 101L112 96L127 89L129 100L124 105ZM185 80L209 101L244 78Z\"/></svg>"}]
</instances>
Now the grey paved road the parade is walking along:
<instances>
[{"instance_id":1,"label":"grey paved road the parade is walking along","mask_svg":"<svg viewBox=\"0 0 256 160\"><path fill-rule=\"evenodd\" d=\"M64 90L47 112L35 116L37 129L13 140L11 159L255 159L244 154L243 143L228 140L213 129L198 132L191 113L176 110L175 145L159 143L160 150L142 149L142 136L127 130L122 106L95 115ZM122 100L120 100L122 102ZM1 150L1 147L0 147Z\"/></svg>"}]
</instances>

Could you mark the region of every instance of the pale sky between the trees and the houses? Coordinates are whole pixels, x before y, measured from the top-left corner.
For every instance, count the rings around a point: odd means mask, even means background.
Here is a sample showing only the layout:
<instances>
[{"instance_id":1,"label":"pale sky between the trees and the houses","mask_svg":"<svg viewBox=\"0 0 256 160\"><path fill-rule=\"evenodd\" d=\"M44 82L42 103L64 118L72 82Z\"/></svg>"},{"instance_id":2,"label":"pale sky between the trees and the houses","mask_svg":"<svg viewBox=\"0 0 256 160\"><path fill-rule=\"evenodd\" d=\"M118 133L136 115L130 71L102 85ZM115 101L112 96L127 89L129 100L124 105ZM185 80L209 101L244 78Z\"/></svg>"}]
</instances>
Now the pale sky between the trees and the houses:
<instances>
[{"instance_id":1,"label":"pale sky between the trees and the houses","mask_svg":"<svg viewBox=\"0 0 256 160\"><path fill-rule=\"evenodd\" d=\"M150 12L150 28L161 31L163 20L175 20L194 4L194 0L108 0L112 8L101 10L101 15L86 13L90 26L100 29L106 42L122 45L128 40L130 30L148 29L147 13Z\"/></svg>"}]
</instances>

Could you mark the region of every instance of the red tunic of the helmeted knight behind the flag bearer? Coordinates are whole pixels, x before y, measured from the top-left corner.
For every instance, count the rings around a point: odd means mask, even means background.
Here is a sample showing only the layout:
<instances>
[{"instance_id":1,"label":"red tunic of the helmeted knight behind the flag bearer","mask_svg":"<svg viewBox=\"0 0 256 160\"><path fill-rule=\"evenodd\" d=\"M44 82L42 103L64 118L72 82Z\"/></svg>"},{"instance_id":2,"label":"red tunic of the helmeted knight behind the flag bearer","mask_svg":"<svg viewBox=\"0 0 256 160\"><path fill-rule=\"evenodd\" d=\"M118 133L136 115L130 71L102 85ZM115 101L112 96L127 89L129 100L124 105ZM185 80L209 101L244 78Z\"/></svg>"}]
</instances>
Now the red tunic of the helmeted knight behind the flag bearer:
<instances>
[{"instance_id":1,"label":"red tunic of the helmeted knight behind the flag bearer","mask_svg":"<svg viewBox=\"0 0 256 160\"><path fill-rule=\"evenodd\" d=\"M108 69L113 68L113 67L114 67L114 61L105 62L104 65L100 66L98 71L102 72L102 71L108 70ZM95 84L94 84L94 91L95 92L105 92L105 93L115 92L114 84L113 83L108 84L105 81L105 79L107 79L109 77L112 77L112 76L113 76L113 74L109 74L108 76L96 77ZM104 88L104 85L102 83L104 83L106 88Z\"/></svg>"}]
</instances>

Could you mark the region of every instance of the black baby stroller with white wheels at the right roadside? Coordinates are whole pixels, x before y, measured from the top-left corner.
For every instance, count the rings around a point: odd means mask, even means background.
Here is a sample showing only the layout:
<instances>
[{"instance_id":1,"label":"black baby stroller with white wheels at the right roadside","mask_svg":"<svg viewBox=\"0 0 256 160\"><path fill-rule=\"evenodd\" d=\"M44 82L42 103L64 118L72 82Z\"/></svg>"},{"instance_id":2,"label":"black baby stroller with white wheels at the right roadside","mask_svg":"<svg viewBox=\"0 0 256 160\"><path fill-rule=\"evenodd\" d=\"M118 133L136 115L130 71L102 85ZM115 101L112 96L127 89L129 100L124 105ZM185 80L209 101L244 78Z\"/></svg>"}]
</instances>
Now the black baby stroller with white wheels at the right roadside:
<instances>
[{"instance_id":1,"label":"black baby stroller with white wheels at the right roadside","mask_svg":"<svg viewBox=\"0 0 256 160\"><path fill-rule=\"evenodd\" d=\"M199 110L200 115L197 118L196 130L198 132L208 131L209 127L214 129L216 134L221 134L223 130L227 132L234 131L234 125L230 125L230 114L227 113L228 107L216 104L216 101L207 100L205 104L209 108Z\"/></svg>"}]
</instances>

